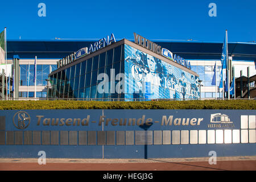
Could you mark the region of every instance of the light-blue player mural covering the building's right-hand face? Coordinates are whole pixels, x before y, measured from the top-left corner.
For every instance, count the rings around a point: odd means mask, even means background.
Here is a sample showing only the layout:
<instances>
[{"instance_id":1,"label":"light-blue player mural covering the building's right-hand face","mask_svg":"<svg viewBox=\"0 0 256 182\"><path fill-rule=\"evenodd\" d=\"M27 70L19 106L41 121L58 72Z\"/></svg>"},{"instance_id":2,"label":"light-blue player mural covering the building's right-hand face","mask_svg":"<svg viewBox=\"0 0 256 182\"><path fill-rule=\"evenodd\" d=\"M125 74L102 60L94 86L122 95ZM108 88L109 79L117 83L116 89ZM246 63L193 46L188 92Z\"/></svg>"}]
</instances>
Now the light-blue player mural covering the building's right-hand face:
<instances>
[{"instance_id":1,"label":"light-blue player mural covering the building's right-hand face","mask_svg":"<svg viewBox=\"0 0 256 182\"><path fill-rule=\"evenodd\" d=\"M125 98L199 98L199 77L125 44Z\"/></svg>"}]
</instances>

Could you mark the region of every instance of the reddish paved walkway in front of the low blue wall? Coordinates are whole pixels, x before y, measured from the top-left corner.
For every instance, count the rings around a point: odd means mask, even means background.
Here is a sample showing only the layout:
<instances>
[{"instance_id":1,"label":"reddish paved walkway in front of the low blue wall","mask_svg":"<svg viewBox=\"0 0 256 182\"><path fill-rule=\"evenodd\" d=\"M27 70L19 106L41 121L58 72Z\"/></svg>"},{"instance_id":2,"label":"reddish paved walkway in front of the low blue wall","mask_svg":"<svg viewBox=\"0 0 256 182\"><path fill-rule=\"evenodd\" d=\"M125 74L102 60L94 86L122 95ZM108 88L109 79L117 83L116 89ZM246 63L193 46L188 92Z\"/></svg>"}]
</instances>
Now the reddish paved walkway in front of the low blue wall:
<instances>
[{"instance_id":1,"label":"reddish paved walkway in front of the low blue wall","mask_svg":"<svg viewBox=\"0 0 256 182\"><path fill-rule=\"evenodd\" d=\"M0 159L0 171L256 171L256 156L219 157L210 165L209 158L172 159Z\"/></svg>"}]
</instances>

